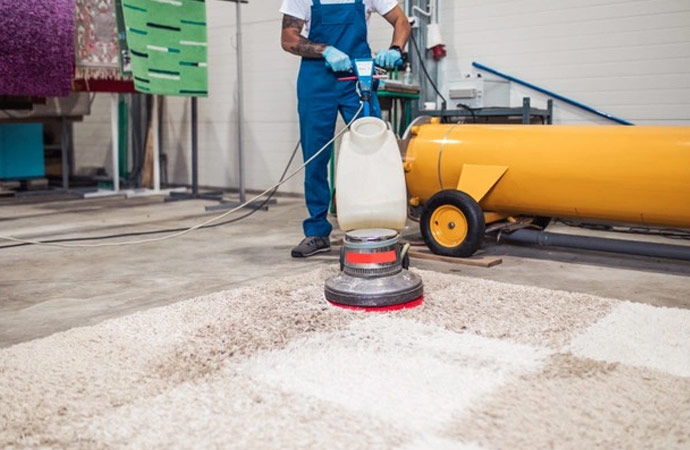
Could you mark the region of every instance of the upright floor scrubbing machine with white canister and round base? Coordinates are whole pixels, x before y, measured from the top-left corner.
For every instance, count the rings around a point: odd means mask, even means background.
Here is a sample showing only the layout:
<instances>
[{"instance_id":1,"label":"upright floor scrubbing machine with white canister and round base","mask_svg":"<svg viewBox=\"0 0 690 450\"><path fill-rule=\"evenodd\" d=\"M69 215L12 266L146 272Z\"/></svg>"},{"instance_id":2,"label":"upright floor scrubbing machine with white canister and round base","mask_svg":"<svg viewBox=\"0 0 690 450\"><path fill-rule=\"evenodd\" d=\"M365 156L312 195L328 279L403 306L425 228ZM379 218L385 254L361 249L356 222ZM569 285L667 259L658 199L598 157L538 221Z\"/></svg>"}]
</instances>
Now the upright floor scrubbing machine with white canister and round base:
<instances>
[{"instance_id":1,"label":"upright floor scrubbing machine with white canister and round base","mask_svg":"<svg viewBox=\"0 0 690 450\"><path fill-rule=\"evenodd\" d=\"M374 61L355 60L363 102L342 139L338 155L336 198L338 225L346 232L340 273L326 281L326 300L347 309L391 311L422 304L423 283L410 272L408 245L400 230L407 220L407 189L395 135L386 122L371 117Z\"/></svg>"}]
</instances>

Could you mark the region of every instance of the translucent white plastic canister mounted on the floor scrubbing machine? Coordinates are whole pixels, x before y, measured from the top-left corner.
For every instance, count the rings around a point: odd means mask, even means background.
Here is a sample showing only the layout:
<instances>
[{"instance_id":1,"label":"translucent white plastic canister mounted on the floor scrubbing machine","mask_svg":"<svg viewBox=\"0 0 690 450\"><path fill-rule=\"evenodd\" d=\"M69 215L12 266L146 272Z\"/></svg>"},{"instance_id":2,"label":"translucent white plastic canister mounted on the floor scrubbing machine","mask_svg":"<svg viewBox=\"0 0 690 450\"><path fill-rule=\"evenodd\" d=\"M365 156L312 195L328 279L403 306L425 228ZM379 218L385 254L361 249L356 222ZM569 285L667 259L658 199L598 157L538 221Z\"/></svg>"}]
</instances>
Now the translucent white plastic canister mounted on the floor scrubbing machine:
<instances>
[{"instance_id":1,"label":"translucent white plastic canister mounted on the floor scrubbing machine","mask_svg":"<svg viewBox=\"0 0 690 450\"><path fill-rule=\"evenodd\" d=\"M343 136L335 189L343 231L403 229L407 220L403 163L395 135L383 120L358 119Z\"/></svg>"}]
</instances>

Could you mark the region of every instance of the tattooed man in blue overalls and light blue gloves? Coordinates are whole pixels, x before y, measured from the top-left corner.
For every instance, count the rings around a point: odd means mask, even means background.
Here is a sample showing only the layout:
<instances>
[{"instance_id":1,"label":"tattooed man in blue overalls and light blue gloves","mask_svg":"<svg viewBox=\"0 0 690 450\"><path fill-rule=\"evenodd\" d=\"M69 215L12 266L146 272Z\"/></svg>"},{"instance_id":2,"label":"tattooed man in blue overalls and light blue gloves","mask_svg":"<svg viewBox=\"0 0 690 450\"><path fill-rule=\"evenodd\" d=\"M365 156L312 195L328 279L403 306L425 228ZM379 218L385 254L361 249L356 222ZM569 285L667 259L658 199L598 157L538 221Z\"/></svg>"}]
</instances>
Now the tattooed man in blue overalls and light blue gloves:
<instances>
[{"instance_id":1,"label":"tattooed man in blue overalls and light blue gloves","mask_svg":"<svg viewBox=\"0 0 690 450\"><path fill-rule=\"evenodd\" d=\"M283 0L282 46L302 57L297 98L304 160L333 138L338 111L350 122L359 109L355 83L338 82L352 70L352 59L371 58L367 19L381 14L393 25L393 42L376 55L376 64L392 69L410 37L410 24L397 0ZM304 37L305 31L308 37ZM376 96L372 114L380 117ZM304 221L304 240L292 249L296 258L330 250L328 222L330 188L324 151L305 170L304 193L310 217Z\"/></svg>"}]
</instances>

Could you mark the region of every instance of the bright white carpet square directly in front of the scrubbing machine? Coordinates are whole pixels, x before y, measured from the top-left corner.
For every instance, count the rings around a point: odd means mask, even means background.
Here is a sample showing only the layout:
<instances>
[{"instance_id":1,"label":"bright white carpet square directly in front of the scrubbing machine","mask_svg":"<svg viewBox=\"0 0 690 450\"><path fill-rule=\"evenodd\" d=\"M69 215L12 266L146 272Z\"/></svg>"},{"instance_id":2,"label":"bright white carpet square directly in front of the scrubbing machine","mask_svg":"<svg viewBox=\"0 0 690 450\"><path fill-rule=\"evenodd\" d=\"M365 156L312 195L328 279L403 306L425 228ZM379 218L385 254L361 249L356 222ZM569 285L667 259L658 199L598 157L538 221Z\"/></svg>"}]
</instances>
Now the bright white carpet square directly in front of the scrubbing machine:
<instances>
[{"instance_id":1,"label":"bright white carpet square directly in front of the scrubbing machine","mask_svg":"<svg viewBox=\"0 0 690 450\"><path fill-rule=\"evenodd\" d=\"M344 331L258 355L243 372L391 425L429 433L521 373L543 349L370 316Z\"/></svg>"}]
</instances>

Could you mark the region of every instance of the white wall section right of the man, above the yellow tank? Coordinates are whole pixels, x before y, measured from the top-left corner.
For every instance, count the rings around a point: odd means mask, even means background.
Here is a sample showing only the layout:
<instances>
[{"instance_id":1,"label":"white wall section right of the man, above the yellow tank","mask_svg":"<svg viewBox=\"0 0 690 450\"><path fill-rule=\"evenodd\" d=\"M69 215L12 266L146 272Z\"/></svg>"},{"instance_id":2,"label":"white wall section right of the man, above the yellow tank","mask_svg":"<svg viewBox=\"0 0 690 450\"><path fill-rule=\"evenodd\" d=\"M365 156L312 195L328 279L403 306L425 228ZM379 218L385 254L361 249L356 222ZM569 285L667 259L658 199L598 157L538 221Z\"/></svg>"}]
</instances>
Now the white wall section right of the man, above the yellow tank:
<instances>
[{"instance_id":1,"label":"white wall section right of the man, above the yellow tank","mask_svg":"<svg viewBox=\"0 0 690 450\"><path fill-rule=\"evenodd\" d=\"M446 81L472 61L636 124L690 125L689 0L444 0ZM513 88L513 103L531 96ZM611 123L557 103L557 123Z\"/></svg>"}]
</instances>

